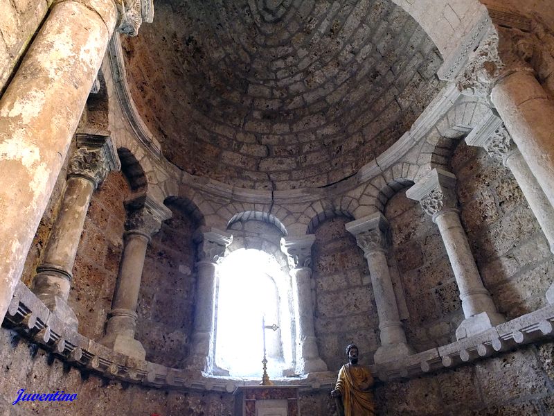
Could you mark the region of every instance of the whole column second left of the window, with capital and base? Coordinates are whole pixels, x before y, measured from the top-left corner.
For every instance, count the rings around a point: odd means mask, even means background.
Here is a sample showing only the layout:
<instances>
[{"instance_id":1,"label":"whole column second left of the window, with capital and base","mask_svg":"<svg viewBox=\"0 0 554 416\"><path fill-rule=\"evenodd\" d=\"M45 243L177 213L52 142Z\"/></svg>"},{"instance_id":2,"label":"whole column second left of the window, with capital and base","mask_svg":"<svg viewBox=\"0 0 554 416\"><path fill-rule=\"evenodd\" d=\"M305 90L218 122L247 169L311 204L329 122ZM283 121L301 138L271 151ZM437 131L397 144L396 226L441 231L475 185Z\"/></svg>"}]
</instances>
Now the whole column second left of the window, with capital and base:
<instances>
[{"instance_id":1,"label":"whole column second left of the window, with capital and base","mask_svg":"<svg viewBox=\"0 0 554 416\"><path fill-rule=\"evenodd\" d=\"M106 335L100 343L115 352L144 360L145 349L134 339L144 259L150 239L159 231L161 223L171 217L171 211L148 196L130 200L125 205L129 211L125 223L125 245L108 313Z\"/></svg>"}]
</instances>

